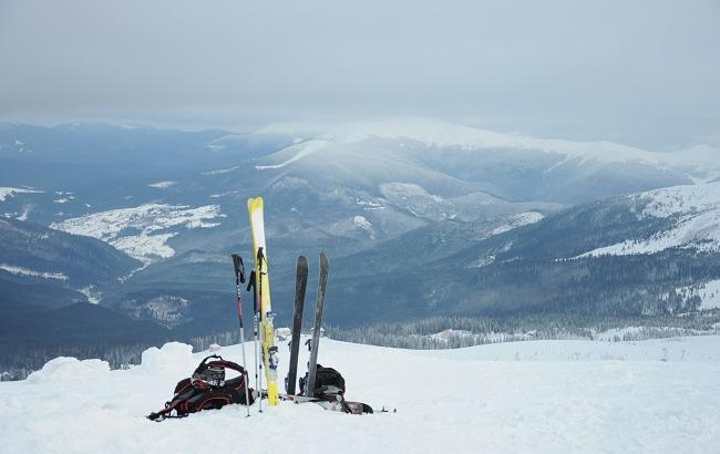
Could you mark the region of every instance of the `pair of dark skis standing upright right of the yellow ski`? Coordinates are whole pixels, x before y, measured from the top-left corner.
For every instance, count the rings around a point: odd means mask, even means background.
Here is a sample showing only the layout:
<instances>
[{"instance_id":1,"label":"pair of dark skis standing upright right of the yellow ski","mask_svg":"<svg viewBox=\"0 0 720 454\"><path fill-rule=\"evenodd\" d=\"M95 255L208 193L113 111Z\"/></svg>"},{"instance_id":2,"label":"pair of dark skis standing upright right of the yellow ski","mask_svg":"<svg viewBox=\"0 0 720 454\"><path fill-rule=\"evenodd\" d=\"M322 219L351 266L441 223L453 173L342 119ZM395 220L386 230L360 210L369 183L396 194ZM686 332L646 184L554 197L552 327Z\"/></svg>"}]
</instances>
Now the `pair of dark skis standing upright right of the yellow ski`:
<instances>
[{"instance_id":1,"label":"pair of dark skis standing upright right of the yellow ski","mask_svg":"<svg viewBox=\"0 0 720 454\"><path fill-rule=\"evenodd\" d=\"M318 279L318 296L315 307L315 323L312 330L312 342L310 344L310 361L308 362L308 380L305 383L305 394L312 398L315 391L315 373L318 363L318 348L320 345L320 331L322 329L322 309L325 307L325 295L328 287L328 256L320 254L320 277ZM290 365L286 378L285 389L289 395L296 393L296 381L298 371L298 355L300 351L300 331L302 329L302 310L305 306L305 291L308 283L308 260L298 257L296 282L295 282L295 314L292 317L292 339L290 341Z\"/></svg>"}]
</instances>

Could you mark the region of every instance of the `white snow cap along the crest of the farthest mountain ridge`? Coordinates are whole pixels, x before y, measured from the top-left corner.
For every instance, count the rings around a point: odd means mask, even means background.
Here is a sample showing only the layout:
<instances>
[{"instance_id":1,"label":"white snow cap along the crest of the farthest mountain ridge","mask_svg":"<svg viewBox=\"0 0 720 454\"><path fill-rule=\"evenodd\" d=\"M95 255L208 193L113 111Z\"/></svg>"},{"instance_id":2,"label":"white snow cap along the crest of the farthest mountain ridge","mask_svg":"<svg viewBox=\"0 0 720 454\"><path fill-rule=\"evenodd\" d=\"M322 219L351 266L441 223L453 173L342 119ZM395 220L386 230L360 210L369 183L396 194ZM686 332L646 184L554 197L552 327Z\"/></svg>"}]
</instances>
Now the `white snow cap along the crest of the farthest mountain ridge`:
<instances>
[{"instance_id":1,"label":"white snow cap along the crest of the farthest mountain ridge","mask_svg":"<svg viewBox=\"0 0 720 454\"><path fill-rule=\"evenodd\" d=\"M698 167L720 168L717 159L720 151L708 145L699 145L675 153L657 153L607 141L575 142L536 138L521 134L496 133L430 118L384 118L340 124L276 123L264 126L255 133L315 137L339 143L359 142L369 137L408 138L436 147L538 149L564 154L569 158L603 163L644 162L652 165L671 164L678 166L686 166L691 163Z\"/></svg>"}]
</instances>

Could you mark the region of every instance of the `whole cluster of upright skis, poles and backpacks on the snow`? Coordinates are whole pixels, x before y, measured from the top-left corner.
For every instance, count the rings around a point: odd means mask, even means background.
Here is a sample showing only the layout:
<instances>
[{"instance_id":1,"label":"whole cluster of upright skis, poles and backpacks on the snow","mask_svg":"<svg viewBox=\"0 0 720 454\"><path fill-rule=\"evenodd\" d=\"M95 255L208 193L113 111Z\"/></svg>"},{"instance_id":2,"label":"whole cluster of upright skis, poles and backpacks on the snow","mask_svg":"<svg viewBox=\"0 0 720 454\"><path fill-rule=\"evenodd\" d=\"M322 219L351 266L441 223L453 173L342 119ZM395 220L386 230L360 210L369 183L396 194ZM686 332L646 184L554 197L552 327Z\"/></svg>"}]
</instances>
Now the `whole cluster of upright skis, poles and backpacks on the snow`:
<instances>
[{"instance_id":1,"label":"whole cluster of upright skis, poles and backpacks on the snow","mask_svg":"<svg viewBox=\"0 0 720 454\"><path fill-rule=\"evenodd\" d=\"M298 257L295 292L295 316L290 341L290 367L285 386L287 394L278 392L277 371L279 362L278 348L275 344L275 330L272 306L270 300L269 267L267 260L267 246L265 243L264 202L261 197L248 199L250 215L250 230L253 233L253 252L255 269L250 272L246 290L253 291L253 337L255 353L255 389L249 388L248 373L245 369L245 326L243 322L243 290L245 283L245 265L243 258L233 254L235 268L235 285L237 292L237 314L240 328L240 344L243 365L225 361L218 355L207 357L200 362L191 379L181 380L175 386L175 395L165 404L165 409L151 413L147 417L162 421L166 417L184 417L189 413L200 410L220 409L230 403L248 405L247 415L250 415L249 405L259 395L258 411L263 411L263 398L268 400L269 406L278 404L279 398L300 403L315 402L327 410L350 414L372 413L370 405L344 400L344 379L332 368L323 368L317 363L320 334L322 332L322 309L328 285L329 261L325 252L320 254L320 274L318 279L318 293L315 307L315 323L312 337L309 340L310 361L308 373L300 378L300 394L296 395L298 353L300 345L300 330L302 328L302 307L308 281L308 261ZM289 330L287 330L289 331ZM286 332L288 334L288 332ZM213 360L213 361L208 361ZM261 369L265 373L261 373ZM225 370L229 369L240 375L225 380ZM265 375L265 376L263 376ZM265 378L266 389L263 389ZM174 414L173 414L174 412Z\"/></svg>"}]
</instances>

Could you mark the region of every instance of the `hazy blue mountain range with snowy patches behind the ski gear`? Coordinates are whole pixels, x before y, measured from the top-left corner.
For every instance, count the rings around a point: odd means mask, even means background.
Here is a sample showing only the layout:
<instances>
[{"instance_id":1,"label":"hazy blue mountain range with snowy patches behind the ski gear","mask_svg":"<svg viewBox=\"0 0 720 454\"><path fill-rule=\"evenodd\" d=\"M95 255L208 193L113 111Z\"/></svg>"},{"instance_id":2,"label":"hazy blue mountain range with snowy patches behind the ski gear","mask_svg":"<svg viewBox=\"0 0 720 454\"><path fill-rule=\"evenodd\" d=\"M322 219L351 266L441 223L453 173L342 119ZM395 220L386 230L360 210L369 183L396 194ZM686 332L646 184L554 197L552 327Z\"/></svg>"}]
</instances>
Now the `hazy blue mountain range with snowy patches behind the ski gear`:
<instances>
[{"instance_id":1,"label":"hazy blue mountain range with snowy patches behind the ski gear","mask_svg":"<svg viewBox=\"0 0 720 454\"><path fill-rule=\"evenodd\" d=\"M297 255L312 267L320 250L336 326L712 309L718 152L423 118L249 134L4 124L0 310L89 301L187 336L232 329L229 254L250 250L256 195L280 323Z\"/></svg>"}]
</instances>

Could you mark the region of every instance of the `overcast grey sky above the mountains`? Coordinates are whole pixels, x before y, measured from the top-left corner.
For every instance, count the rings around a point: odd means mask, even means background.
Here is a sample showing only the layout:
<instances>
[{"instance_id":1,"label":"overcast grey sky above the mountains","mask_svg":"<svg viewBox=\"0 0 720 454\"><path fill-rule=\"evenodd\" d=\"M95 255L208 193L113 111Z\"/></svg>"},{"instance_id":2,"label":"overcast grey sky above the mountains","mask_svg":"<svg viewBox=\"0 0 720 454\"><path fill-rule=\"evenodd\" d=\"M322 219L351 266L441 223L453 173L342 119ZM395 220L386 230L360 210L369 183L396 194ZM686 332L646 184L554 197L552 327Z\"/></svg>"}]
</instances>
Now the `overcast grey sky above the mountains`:
<instances>
[{"instance_id":1,"label":"overcast grey sky above the mountains","mask_svg":"<svg viewBox=\"0 0 720 454\"><path fill-rule=\"evenodd\" d=\"M720 1L0 0L0 120L720 145Z\"/></svg>"}]
</instances>

